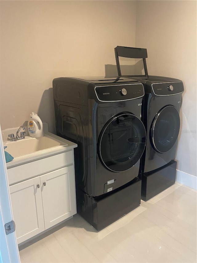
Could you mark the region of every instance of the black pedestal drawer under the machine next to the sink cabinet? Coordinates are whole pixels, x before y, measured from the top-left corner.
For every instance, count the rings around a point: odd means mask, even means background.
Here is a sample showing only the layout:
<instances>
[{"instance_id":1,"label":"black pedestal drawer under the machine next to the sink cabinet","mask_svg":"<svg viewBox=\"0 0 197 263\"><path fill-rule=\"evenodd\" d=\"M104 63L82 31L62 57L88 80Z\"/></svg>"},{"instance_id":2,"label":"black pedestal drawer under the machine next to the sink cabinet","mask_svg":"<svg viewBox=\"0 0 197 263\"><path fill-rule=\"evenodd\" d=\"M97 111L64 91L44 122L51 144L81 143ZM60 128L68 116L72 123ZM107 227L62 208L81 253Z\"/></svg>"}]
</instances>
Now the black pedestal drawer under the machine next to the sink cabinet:
<instances>
[{"instance_id":1,"label":"black pedestal drawer under the machine next to the sink cabinet","mask_svg":"<svg viewBox=\"0 0 197 263\"><path fill-rule=\"evenodd\" d=\"M96 230L102 230L140 205L141 180L139 178L133 179L119 189L103 198L95 199L81 192L83 208L80 209L81 204L77 207L77 212Z\"/></svg>"}]
</instances>

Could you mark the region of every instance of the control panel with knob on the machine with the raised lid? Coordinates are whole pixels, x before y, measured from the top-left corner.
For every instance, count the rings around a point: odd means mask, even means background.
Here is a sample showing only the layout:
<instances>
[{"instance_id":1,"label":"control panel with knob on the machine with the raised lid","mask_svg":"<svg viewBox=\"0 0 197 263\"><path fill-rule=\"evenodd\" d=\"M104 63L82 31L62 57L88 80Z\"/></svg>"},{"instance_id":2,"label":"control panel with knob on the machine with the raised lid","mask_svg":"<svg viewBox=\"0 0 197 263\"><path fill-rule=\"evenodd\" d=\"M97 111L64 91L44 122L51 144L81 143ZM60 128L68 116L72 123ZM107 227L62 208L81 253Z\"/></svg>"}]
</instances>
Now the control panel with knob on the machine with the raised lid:
<instances>
[{"instance_id":1,"label":"control panel with knob on the machine with the raised lid","mask_svg":"<svg viewBox=\"0 0 197 263\"><path fill-rule=\"evenodd\" d=\"M153 83L152 90L155 95L167 96L182 93L184 91L183 82L163 82L163 83Z\"/></svg>"}]
</instances>

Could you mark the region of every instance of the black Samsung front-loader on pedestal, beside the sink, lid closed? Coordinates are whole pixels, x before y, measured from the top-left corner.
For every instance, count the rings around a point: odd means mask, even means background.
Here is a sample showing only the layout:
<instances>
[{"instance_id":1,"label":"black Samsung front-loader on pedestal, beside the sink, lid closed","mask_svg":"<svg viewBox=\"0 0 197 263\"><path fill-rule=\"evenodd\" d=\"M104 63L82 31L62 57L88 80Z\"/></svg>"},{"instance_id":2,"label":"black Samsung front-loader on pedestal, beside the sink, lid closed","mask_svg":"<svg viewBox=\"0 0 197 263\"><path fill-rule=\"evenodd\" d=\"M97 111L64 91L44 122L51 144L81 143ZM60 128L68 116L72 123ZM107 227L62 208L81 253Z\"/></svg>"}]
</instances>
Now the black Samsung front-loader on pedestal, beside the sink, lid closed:
<instances>
[{"instance_id":1,"label":"black Samsung front-loader on pedestal, beside the sink, lid closed","mask_svg":"<svg viewBox=\"0 0 197 263\"><path fill-rule=\"evenodd\" d=\"M143 85L130 78L53 80L57 135L74 149L77 212L101 230L140 205Z\"/></svg>"}]
</instances>

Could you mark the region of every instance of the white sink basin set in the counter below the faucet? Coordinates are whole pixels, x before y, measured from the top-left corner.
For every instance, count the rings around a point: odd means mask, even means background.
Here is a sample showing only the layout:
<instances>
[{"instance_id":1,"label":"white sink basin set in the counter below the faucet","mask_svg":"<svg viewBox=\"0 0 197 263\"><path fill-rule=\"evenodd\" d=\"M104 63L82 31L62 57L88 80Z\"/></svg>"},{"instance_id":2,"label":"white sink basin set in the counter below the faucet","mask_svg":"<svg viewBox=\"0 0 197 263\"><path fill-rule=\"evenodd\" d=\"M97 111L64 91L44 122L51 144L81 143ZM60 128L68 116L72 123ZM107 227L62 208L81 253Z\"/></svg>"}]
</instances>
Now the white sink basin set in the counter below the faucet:
<instances>
[{"instance_id":1,"label":"white sink basin set in the counter below the faucet","mask_svg":"<svg viewBox=\"0 0 197 263\"><path fill-rule=\"evenodd\" d=\"M32 138L30 136L26 136L25 139L14 142L7 142L4 144L4 146L7 146L5 150L14 158L32 154L38 151L50 150L50 148L61 145L67 146L68 144L51 138L47 135L41 138Z\"/></svg>"}]
</instances>

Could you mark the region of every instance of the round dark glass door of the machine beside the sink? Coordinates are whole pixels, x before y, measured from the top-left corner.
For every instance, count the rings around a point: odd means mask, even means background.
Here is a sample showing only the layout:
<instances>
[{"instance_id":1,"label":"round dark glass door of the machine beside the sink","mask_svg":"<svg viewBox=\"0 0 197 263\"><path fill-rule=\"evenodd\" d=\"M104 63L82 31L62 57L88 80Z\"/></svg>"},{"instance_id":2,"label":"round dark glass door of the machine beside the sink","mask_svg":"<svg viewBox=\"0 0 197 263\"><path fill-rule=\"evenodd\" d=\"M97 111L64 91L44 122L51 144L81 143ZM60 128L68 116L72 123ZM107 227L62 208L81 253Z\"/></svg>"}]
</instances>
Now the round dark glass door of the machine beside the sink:
<instances>
[{"instance_id":1,"label":"round dark glass door of the machine beside the sink","mask_svg":"<svg viewBox=\"0 0 197 263\"><path fill-rule=\"evenodd\" d=\"M142 121L131 113L120 113L104 125L98 138L98 156L110 171L123 172L139 161L145 143Z\"/></svg>"}]
</instances>

